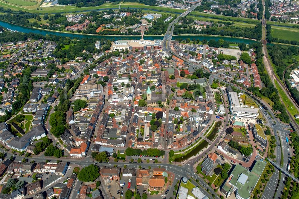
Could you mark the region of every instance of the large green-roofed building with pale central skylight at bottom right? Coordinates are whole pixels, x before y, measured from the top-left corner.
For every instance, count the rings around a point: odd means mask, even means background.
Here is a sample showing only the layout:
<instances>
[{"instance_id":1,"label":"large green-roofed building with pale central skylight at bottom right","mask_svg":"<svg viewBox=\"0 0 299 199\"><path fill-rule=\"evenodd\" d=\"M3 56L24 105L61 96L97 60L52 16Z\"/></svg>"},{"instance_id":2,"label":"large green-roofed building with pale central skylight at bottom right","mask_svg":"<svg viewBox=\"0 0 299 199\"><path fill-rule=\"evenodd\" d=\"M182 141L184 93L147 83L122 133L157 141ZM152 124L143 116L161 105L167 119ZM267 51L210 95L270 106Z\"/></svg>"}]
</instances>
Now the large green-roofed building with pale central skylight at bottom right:
<instances>
[{"instance_id":1,"label":"large green-roofed building with pale central skylight at bottom right","mask_svg":"<svg viewBox=\"0 0 299 199\"><path fill-rule=\"evenodd\" d=\"M265 166L266 162L257 161L249 171L237 164L222 186L221 193L228 198L231 193L235 192L237 199L249 199Z\"/></svg>"}]
</instances>

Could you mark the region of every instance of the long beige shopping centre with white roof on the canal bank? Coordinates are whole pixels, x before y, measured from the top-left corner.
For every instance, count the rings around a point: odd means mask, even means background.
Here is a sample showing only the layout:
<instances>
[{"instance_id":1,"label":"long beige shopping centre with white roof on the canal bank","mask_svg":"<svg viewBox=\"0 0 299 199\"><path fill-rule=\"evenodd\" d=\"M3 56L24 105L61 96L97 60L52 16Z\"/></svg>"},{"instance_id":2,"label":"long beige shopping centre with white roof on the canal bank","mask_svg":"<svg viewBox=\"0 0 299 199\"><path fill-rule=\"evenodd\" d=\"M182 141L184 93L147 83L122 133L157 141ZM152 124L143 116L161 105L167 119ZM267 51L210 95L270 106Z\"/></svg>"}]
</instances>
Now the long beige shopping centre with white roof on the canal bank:
<instances>
[{"instance_id":1,"label":"long beige shopping centre with white roof on the canal bank","mask_svg":"<svg viewBox=\"0 0 299 199\"><path fill-rule=\"evenodd\" d=\"M120 40L111 42L112 50L160 50L162 41L157 40Z\"/></svg>"}]
</instances>

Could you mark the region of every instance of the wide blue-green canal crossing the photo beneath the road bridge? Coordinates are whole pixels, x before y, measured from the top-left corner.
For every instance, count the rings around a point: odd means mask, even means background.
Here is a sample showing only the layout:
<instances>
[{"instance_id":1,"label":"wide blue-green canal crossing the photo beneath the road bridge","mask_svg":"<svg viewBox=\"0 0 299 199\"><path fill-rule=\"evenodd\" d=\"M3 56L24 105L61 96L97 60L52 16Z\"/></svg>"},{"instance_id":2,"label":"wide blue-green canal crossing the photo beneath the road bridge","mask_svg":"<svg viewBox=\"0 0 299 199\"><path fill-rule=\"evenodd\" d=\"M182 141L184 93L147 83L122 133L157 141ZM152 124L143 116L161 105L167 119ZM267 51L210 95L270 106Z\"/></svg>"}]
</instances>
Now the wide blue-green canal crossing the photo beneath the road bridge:
<instances>
[{"instance_id":1,"label":"wide blue-green canal crossing the photo beneath the road bridge","mask_svg":"<svg viewBox=\"0 0 299 199\"><path fill-rule=\"evenodd\" d=\"M11 24L8 22L4 22L4 21L0 21L0 25L5 27L5 28L9 28L11 30L16 30L19 32L23 32L23 33L36 33L36 34L42 34L42 35L46 35L46 34L52 34L52 35L57 35L57 36L63 36L63 37L71 37L71 38L108 38L110 40L120 40L120 39L141 39L141 36L109 36L109 35L84 35L84 34L72 34L72 33L63 33L63 32L54 32L54 31L50 31L50 30L39 30L36 28L31 28L31 27L25 27L25 26L20 26L20 25L15 25L15 24ZM176 39L176 38L181 38L181 39L187 39L190 38L192 39L199 39L200 41L202 41L203 39L206 40L210 40L210 39L215 39L216 41L219 39L224 39L228 42L237 42L237 43L245 43L245 44L249 44L249 43L253 43L253 42L257 42L251 39L242 39L242 38L234 38L234 37L222 37L222 36L206 36L206 35L175 35L172 37L172 39ZM144 39L149 39L149 40L153 40L153 39L163 39L163 36L144 36Z\"/></svg>"}]
</instances>

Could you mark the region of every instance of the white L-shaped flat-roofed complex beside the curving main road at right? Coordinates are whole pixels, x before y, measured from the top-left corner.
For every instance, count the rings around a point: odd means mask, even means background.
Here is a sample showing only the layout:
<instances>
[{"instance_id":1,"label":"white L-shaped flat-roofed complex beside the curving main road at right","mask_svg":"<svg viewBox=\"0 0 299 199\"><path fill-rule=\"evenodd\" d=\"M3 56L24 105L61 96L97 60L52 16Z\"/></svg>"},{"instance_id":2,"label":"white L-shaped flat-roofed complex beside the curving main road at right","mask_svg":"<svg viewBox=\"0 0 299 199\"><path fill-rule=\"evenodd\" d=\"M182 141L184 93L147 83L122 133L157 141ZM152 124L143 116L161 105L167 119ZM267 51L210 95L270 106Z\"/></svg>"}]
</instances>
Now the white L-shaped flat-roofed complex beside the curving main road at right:
<instances>
[{"instance_id":1,"label":"white L-shaped flat-roofed complex beside the curving main road at right","mask_svg":"<svg viewBox=\"0 0 299 199\"><path fill-rule=\"evenodd\" d=\"M232 115L236 117L249 117L257 118L259 115L259 109L254 106L244 105L240 100L240 94L236 92L228 92L228 100L230 103L230 111Z\"/></svg>"}]
</instances>

